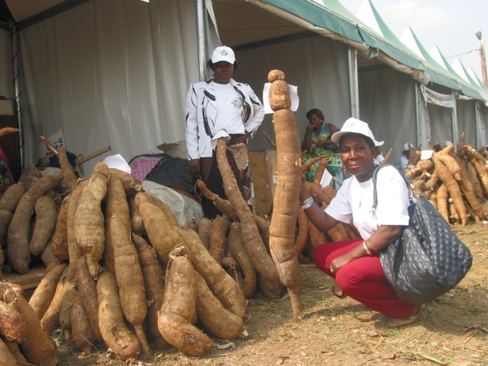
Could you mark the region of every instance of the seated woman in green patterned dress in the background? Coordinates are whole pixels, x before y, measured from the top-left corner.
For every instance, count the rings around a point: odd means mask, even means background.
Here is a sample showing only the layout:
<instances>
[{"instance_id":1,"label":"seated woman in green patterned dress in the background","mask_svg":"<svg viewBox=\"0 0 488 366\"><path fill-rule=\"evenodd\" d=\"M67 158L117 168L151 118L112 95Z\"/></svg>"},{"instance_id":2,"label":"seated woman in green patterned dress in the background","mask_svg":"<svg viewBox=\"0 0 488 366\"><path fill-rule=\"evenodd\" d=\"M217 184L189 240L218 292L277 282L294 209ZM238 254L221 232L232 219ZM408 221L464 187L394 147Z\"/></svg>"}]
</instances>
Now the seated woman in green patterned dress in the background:
<instances>
[{"instance_id":1,"label":"seated woman in green patterned dress in the background","mask_svg":"<svg viewBox=\"0 0 488 366\"><path fill-rule=\"evenodd\" d=\"M339 154L334 151L337 149L337 144L330 140L332 134L337 131L337 127L332 123L324 122L324 114L317 108L306 112L306 118L309 120L309 126L306 128L304 142L301 144L301 150L306 150L302 163L311 161L318 156L325 156L328 163L327 171L339 182L339 184L334 182L333 187L339 188L344 179L342 174L344 167ZM305 172L306 179L309 182L313 182L319 165L320 162L317 161Z\"/></svg>"}]
</instances>

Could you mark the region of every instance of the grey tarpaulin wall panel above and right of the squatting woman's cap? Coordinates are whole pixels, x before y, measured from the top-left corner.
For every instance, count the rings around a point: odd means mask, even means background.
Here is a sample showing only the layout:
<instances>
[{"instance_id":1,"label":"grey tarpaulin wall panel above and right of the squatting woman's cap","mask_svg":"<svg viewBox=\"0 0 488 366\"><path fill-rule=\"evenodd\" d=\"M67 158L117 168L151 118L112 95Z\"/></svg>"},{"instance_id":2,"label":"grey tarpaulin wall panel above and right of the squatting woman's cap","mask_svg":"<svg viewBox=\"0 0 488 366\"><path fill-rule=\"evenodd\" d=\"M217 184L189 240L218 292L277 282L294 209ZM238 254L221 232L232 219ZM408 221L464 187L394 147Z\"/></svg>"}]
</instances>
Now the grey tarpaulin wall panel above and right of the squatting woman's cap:
<instances>
[{"instance_id":1,"label":"grey tarpaulin wall panel above and right of the squatting woman's cap","mask_svg":"<svg viewBox=\"0 0 488 366\"><path fill-rule=\"evenodd\" d=\"M359 73L360 118L377 140L383 155L393 148L388 163L399 165L405 142L416 142L415 81L393 69Z\"/></svg>"}]
</instances>

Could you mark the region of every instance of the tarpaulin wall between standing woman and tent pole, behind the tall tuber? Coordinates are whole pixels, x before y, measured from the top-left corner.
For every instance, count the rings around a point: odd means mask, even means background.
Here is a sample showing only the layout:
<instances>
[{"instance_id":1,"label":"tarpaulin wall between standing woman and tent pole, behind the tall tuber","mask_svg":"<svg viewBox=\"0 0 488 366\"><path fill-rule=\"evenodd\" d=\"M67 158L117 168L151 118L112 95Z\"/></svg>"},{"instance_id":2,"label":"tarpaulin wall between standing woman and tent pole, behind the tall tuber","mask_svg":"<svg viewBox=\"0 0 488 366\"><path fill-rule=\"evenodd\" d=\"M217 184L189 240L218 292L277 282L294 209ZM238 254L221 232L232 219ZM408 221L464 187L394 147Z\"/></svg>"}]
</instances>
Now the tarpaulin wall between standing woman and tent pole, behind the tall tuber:
<instances>
[{"instance_id":1,"label":"tarpaulin wall between standing woman and tent pole, behind the tall tuber","mask_svg":"<svg viewBox=\"0 0 488 366\"><path fill-rule=\"evenodd\" d=\"M264 83L272 69L285 72L286 81L298 86L299 108L295 112L301 139L312 108L323 111L325 121L341 128L351 116L348 92L347 46L323 36L276 43L236 53L238 70L234 79L250 84L262 100ZM266 115L259 130L274 139L271 114ZM258 132L250 141L250 150L270 149L271 145Z\"/></svg>"}]
</instances>

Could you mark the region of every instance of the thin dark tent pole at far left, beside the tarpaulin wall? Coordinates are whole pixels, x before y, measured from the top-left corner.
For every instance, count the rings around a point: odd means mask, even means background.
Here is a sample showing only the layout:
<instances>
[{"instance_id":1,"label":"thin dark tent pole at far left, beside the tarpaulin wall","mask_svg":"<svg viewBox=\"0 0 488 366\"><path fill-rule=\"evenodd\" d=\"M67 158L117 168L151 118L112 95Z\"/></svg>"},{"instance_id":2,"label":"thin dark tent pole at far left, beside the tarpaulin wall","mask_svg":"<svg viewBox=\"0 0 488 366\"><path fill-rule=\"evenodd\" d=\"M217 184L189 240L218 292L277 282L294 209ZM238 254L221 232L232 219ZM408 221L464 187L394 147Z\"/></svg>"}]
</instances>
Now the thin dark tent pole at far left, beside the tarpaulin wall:
<instances>
[{"instance_id":1,"label":"thin dark tent pole at far left, beside the tarpaulin wall","mask_svg":"<svg viewBox=\"0 0 488 366\"><path fill-rule=\"evenodd\" d=\"M19 32L13 20L9 21L11 32L12 79L15 98L15 116L19 129L20 169L24 169L24 131L22 130L22 100L20 98L20 39Z\"/></svg>"}]
</instances>

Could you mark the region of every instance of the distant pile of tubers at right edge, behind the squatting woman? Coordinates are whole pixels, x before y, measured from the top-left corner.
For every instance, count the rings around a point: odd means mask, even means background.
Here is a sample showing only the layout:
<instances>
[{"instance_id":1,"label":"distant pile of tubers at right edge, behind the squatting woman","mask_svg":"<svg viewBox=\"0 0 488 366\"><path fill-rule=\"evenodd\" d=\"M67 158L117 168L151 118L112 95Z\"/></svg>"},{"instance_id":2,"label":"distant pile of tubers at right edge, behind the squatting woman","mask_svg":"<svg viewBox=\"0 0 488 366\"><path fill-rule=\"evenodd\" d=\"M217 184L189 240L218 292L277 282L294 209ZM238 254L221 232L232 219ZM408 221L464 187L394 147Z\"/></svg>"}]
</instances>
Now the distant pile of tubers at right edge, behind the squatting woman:
<instances>
[{"instance_id":1,"label":"distant pile of tubers at right edge, behind the squatting woman","mask_svg":"<svg viewBox=\"0 0 488 366\"><path fill-rule=\"evenodd\" d=\"M449 224L465 226L470 220L488 219L488 156L459 142L441 148L428 141L435 151L419 160L420 151L411 149L405 176L419 193L428 198Z\"/></svg>"}]
</instances>

